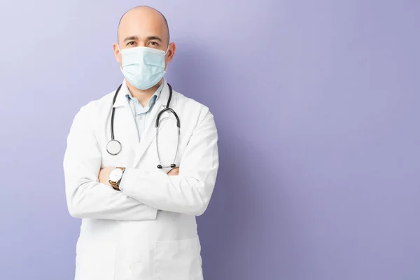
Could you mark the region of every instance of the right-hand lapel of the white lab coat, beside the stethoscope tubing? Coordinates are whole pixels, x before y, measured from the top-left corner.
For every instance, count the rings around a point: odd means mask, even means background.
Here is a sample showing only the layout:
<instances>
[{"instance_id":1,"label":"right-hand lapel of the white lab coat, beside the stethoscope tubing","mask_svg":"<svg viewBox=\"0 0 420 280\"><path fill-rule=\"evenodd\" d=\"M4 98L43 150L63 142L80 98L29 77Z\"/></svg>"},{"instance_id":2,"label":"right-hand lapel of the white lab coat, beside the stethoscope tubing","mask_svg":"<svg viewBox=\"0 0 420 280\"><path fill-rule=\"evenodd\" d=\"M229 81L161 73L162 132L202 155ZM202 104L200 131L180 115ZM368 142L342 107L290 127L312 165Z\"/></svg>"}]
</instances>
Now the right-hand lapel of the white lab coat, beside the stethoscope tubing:
<instances>
[{"instance_id":1,"label":"right-hand lapel of the white lab coat, beside the stethoscope tubing","mask_svg":"<svg viewBox=\"0 0 420 280\"><path fill-rule=\"evenodd\" d=\"M146 125L144 128L144 134L141 137L139 148L136 151L136 157L134 158L133 166L137 166L139 161L141 160L141 157L143 157L144 153L147 151L148 147L151 145L153 139L156 137L156 118L158 117L158 113L162 111L162 109L165 109L167 101L169 99L169 86L166 83L166 80L164 80L165 83L162 88L162 92L160 92L160 97L156 99L155 105L153 106L153 109L148 114L146 118ZM171 99L171 104L169 105L171 108L173 108L176 98L173 94ZM163 113L160 119L165 118L167 116L167 113ZM165 125L166 121L162 121L159 123L159 130L162 130L162 127Z\"/></svg>"}]
</instances>

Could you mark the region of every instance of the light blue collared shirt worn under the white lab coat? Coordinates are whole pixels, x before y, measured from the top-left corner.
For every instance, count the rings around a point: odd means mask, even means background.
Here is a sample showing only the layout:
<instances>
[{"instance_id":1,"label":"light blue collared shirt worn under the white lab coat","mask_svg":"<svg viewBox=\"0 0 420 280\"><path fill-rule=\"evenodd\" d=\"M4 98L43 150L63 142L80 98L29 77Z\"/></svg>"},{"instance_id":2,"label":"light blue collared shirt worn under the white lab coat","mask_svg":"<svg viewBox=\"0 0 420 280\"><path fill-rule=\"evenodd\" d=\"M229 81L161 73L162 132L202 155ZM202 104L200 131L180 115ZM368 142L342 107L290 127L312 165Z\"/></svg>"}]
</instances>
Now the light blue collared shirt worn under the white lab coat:
<instances>
[{"instance_id":1,"label":"light blue collared shirt worn under the white lab coat","mask_svg":"<svg viewBox=\"0 0 420 280\"><path fill-rule=\"evenodd\" d=\"M149 102L146 106L141 105L139 100L137 98L133 97L130 90L127 88L127 93L125 94L125 97L127 97L127 102L130 104L130 108L132 109L133 118L136 121L137 126L137 132L139 135L139 141L141 140L141 136L144 132L144 124L146 123L146 115L147 113L151 112L153 109L153 106L155 105L156 99L159 98L160 92L162 91L163 85L165 82L163 82L159 87L158 90L155 91L155 93L152 95L151 99L149 99ZM123 176L124 178L124 176ZM123 180L120 182L120 190L123 190Z\"/></svg>"}]
</instances>

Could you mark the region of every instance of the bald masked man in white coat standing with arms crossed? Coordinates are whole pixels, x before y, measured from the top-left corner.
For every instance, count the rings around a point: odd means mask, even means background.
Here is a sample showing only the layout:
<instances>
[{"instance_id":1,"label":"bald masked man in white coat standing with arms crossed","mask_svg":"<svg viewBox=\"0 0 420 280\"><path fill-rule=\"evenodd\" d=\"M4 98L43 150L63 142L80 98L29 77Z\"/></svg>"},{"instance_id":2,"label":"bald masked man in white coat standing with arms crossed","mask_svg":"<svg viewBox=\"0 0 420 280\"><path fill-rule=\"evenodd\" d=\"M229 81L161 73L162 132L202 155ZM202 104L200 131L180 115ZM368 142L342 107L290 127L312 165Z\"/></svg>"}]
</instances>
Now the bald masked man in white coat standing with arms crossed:
<instances>
[{"instance_id":1,"label":"bald masked man in white coat standing with arms crossed","mask_svg":"<svg viewBox=\"0 0 420 280\"><path fill-rule=\"evenodd\" d=\"M82 219L76 280L203 279L195 216L214 190L218 136L209 109L163 78L175 50L158 10L129 10L113 45L118 94L73 120L63 165L69 213Z\"/></svg>"}]
</instances>

